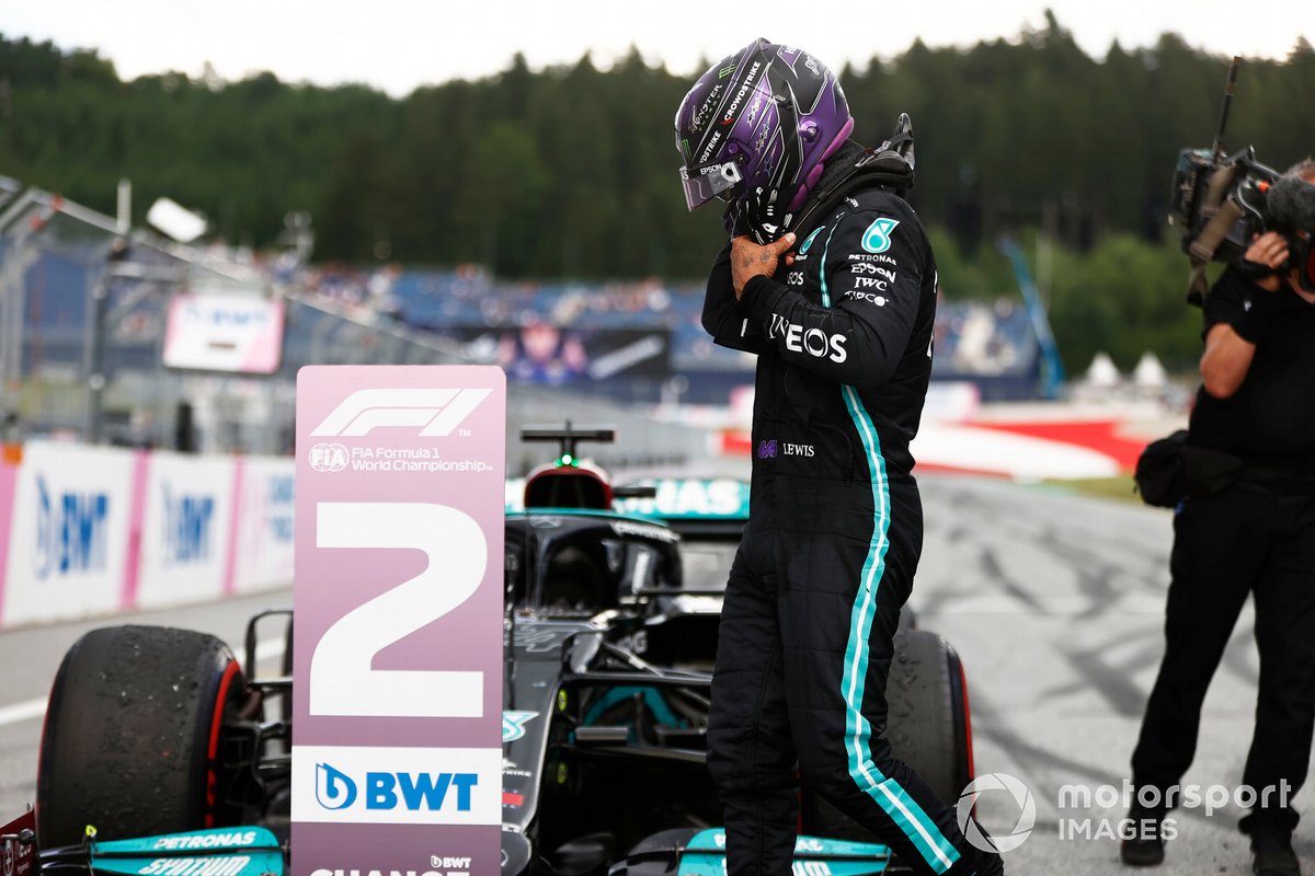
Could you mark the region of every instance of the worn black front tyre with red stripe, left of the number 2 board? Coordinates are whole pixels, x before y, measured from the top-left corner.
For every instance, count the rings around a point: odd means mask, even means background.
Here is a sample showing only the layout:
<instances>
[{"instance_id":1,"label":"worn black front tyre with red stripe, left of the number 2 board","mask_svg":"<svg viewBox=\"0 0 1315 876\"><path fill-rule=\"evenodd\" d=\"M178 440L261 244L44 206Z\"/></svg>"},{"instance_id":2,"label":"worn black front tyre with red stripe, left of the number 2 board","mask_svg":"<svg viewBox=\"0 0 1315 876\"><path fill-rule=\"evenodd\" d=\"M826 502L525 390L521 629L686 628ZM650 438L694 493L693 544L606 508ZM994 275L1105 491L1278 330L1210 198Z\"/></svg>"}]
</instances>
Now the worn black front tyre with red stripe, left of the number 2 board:
<instances>
[{"instance_id":1,"label":"worn black front tyre with red stripe, left of the number 2 board","mask_svg":"<svg viewBox=\"0 0 1315 876\"><path fill-rule=\"evenodd\" d=\"M213 636L109 626L78 640L50 690L37 772L41 848L229 823L218 763L246 682Z\"/></svg>"}]
</instances>

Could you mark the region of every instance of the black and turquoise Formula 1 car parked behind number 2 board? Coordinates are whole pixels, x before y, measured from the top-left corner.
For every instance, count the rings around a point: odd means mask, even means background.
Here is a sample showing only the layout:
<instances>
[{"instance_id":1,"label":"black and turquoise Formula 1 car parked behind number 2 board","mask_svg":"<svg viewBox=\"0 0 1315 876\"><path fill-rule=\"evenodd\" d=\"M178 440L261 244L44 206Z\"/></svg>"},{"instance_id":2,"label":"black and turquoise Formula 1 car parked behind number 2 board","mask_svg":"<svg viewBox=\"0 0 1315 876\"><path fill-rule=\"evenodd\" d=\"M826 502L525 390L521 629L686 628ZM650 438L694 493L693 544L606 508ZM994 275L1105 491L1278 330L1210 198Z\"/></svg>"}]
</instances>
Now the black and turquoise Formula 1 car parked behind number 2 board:
<instances>
[{"instance_id":1,"label":"black and turquoise Formula 1 car parked behind number 2 board","mask_svg":"<svg viewBox=\"0 0 1315 876\"><path fill-rule=\"evenodd\" d=\"M576 454L610 431L523 437L562 452L506 514L502 876L721 873L721 809L704 764L709 672L747 487L614 486ZM255 657L270 623L284 625L276 676ZM963 668L942 638L909 626L888 686L889 738L955 800L972 777ZM39 872L280 873L291 654L291 609L249 621L241 663L191 630L87 633L55 676L37 809L0 837L7 860L26 855ZM797 872L899 869L889 848L802 795Z\"/></svg>"}]
</instances>

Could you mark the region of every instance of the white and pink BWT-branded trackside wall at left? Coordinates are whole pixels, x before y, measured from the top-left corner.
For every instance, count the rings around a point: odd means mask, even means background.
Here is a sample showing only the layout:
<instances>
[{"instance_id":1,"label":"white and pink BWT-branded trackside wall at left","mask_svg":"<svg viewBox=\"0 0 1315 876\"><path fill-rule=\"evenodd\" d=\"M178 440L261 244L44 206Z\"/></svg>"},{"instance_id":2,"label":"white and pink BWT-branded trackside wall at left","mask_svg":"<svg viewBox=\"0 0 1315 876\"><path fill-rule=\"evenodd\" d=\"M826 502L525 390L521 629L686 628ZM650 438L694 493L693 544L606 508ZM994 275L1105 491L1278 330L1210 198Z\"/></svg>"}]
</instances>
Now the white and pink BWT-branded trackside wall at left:
<instances>
[{"instance_id":1,"label":"white and pink BWT-branded trackside wall at left","mask_svg":"<svg viewBox=\"0 0 1315 876\"><path fill-rule=\"evenodd\" d=\"M292 582L293 461L32 441L0 460L0 629Z\"/></svg>"}]
</instances>

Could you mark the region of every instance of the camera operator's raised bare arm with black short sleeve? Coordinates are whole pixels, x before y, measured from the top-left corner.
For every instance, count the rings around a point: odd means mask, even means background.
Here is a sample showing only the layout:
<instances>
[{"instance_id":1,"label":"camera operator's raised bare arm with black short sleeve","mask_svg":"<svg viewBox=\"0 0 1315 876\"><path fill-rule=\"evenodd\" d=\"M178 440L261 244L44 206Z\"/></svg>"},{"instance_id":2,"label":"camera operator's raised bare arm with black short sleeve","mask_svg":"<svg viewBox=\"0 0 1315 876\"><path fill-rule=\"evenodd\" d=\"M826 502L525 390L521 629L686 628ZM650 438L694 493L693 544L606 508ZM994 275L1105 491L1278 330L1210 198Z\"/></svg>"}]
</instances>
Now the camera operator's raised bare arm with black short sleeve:
<instances>
[{"instance_id":1,"label":"camera operator's raised bare arm with black short sleeve","mask_svg":"<svg viewBox=\"0 0 1315 876\"><path fill-rule=\"evenodd\" d=\"M1243 256L1247 261L1279 269L1287 263L1287 240L1273 231L1252 240ZM1240 282L1240 280L1239 280ZM1218 320L1206 330L1206 352L1201 356L1201 380L1206 391L1215 398L1230 398L1247 380L1256 356L1256 343L1269 320L1281 281L1278 274L1252 280L1255 288L1245 294L1241 307L1228 297L1207 311L1207 318ZM1211 306L1214 302L1207 303Z\"/></svg>"}]
</instances>

